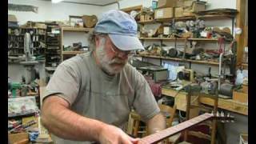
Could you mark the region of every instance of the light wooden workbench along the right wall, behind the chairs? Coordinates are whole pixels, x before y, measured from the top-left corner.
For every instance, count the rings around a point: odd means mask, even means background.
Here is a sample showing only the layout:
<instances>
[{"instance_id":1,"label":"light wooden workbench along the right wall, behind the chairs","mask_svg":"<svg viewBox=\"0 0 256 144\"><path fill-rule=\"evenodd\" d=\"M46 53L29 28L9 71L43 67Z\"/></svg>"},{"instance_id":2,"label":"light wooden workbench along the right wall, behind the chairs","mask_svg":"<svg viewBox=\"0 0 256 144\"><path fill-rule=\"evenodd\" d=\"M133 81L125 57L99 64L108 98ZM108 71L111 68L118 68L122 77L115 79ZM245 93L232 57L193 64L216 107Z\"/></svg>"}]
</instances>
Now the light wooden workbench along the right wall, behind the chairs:
<instances>
[{"instance_id":1,"label":"light wooden workbench along the right wall, behind the chairs","mask_svg":"<svg viewBox=\"0 0 256 144\"><path fill-rule=\"evenodd\" d=\"M184 91L162 87L162 94L174 98L175 105L178 110L186 111L186 95ZM214 101L210 98L201 98L200 101L208 106L214 106ZM193 102L193 98L191 99ZM248 105L246 103L236 102L233 99L218 98L218 108L229 110L238 114L248 115Z\"/></svg>"}]
</instances>

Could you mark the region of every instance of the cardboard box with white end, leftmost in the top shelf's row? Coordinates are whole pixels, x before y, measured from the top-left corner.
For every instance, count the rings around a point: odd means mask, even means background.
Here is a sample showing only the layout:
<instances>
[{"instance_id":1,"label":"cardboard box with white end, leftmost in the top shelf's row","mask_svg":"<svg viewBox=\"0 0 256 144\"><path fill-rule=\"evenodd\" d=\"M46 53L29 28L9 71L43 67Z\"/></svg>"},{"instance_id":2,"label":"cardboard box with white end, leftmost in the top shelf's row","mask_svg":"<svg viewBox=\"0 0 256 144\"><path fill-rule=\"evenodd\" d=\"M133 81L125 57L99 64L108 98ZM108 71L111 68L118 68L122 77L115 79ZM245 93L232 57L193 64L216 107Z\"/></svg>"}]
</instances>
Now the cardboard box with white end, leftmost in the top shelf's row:
<instances>
[{"instance_id":1,"label":"cardboard box with white end, leftmost in the top shelf's row","mask_svg":"<svg viewBox=\"0 0 256 144\"><path fill-rule=\"evenodd\" d=\"M172 7L166 7L162 9L158 9L154 11L154 18L173 18L174 17L174 9Z\"/></svg>"}]
</instances>

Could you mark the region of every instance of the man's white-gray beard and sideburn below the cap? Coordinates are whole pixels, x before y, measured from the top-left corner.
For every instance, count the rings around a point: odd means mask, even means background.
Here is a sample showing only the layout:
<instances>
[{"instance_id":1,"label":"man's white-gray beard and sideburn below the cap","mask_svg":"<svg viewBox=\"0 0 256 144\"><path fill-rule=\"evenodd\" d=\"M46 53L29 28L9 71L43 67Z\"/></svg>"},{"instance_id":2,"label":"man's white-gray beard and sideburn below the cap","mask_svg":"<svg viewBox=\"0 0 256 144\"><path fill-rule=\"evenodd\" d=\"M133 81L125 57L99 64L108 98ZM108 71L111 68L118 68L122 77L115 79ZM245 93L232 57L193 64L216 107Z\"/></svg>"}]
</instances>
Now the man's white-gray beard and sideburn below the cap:
<instances>
[{"instance_id":1,"label":"man's white-gray beard and sideburn below the cap","mask_svg":"<svg viewBox=\"0 0 256 144\"><path fill-rule=\"evenodd\" d=\"M127 61L123 61L118 57L113 59L108 58L105 50L105 38L100 39L100 46L96 48L95 54L99 60L100 66L106 74L114 75L121 72L122 68L126 65ZM121 66L113 66L115 64L120 64Z\"/></svg>"}]
</instances>

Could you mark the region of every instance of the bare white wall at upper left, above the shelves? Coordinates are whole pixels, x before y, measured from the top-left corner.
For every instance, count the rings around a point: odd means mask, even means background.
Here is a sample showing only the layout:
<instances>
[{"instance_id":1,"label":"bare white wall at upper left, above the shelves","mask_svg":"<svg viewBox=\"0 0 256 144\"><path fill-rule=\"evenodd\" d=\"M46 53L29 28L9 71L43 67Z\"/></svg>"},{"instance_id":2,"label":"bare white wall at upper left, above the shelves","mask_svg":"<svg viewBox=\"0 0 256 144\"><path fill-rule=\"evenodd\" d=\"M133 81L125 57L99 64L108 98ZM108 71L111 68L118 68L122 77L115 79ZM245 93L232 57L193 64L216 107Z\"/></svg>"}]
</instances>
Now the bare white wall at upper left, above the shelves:
<instances>
[{"instance_id":1,"label":"bare white wall at upper left, above the shelves","mask_svg":"<svg viewBox=\"0 0 256 144\"><path fill-rule=\"evenodd\" d=\"M34 12L8 10L8 14L14 14L16 16L20 25L27 21L68 21L69 15L95 14L98 16L98 14L102 14L102 6L90 6L65 2L53 4L50 1L42 0L8 0L8 3L38 6L38 14Z\"/></svg>"}]
</instances>

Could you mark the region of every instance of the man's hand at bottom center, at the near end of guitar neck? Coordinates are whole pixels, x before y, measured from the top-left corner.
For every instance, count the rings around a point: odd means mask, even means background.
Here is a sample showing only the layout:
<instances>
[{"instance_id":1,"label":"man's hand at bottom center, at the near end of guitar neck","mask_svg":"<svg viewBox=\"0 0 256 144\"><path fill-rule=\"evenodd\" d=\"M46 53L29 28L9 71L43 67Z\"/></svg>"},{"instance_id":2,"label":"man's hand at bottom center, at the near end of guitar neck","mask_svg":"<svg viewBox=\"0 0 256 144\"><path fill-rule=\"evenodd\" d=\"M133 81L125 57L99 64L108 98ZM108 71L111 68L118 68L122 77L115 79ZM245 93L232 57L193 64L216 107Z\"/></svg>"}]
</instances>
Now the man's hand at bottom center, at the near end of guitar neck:
<instances>
[{"instance_id":1,"label":"man's hand at bottom center, at the near end of guitar neck","mask_svg":"<svg viewBox=\"0 0 256 144\"><path fill-rule=\"evenodd\" d=\"M131 138L116 126L105 125L99 132L98 140L104 144L133 144L137 143L139 138Z\"/></svg>"}]
</instances>

